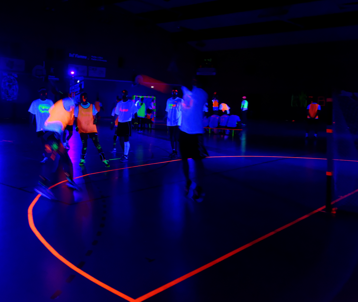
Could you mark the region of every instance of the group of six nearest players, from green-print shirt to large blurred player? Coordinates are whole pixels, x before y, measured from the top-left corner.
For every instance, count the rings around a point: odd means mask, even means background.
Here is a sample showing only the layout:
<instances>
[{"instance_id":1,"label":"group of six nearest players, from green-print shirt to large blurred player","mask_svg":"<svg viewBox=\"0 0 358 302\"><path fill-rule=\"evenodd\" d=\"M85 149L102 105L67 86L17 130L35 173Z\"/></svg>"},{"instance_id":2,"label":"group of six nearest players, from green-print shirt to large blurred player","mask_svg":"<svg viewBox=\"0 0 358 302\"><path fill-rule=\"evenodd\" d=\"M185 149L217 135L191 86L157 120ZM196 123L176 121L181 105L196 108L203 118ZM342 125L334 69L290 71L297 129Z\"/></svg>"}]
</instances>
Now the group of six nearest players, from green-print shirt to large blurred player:
<instances>
[{"instance_id":1,"label":"group of six nearest players, from green-print shirt to large blurred player","mask_svg":"<svg viewBox=\"0 0 358 302\"><path fill-rule=\"evenodd\" d=\"M178 97L178 89L172 90L172 97L167 100L165 119L167 121L172 153L171 158L178 156L178 147L183 160L183 171L186 179L186 195L194 200L201 202L205 193L202 189L203 164L201 159L207 157L207 151L203 145L203 106L207 102L207 93L198 87L197 81L182 86L183 99ZM82 151L80 165L85 163L87 150L87 139L92 139L100 159L108 168L108 160L98 140L97 133L97 112L96 106L87 101L87 94L81 93L80 104L75 104L68 93L62 93L62 98L55 104L46 98L45 88L39 90L40 98L32 102L29 112L32 114L32 122L36 120L37 136L41 139L44 158L40 179L35 191L44 197L54 199L54 195L49 189L53 183L54 171L57 170L59 161L62 162L63 170L67 178L67 185L73 189L79 189L73 180L73 165L68 156L69 142L72 136L73 125L79 132L82 141ZM137 102L138 103L138 102ZM113 137L113 151L116 152L116 139L119 138L120 145L124 154L120 158L121 162L128 161L130 149L129 137L131 136L131 121L134 115L141 108L142 100L135 104L128 99L128 92L122 91L122 97L118 100L116 107L113 108L114 117L111 129L115 129ZM138 108L139 107L139 108ZM113 114L112 114L113 115ZM140 131L142 131L141 128ZM66 137L66 130L68 136ZM63 140L63 142L62 142ZM180 145L178 144L180 142ZM179 146L178 146L179 145ZM189 178L188 158L194 159L197 184Z\"/></svg>"}]
</instances>

